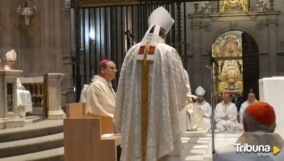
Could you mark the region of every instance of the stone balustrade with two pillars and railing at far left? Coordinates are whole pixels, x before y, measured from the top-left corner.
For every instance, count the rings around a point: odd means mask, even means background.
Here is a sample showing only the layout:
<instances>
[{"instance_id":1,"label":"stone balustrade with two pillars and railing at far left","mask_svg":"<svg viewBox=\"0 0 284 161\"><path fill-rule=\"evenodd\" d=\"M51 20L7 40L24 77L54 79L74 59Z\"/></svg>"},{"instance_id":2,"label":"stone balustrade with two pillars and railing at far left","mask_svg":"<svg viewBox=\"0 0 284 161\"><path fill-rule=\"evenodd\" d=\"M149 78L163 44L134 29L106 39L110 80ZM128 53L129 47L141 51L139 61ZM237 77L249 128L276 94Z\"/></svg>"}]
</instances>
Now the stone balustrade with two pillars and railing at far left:
<instances>
[{"instance_id":1,"label":"stone balustrade with two pillars and railing at far left","mask_svg":"<svg viewBox=\"0 0 284 161\"><path fill-rule=\"evenodd\" d=\"M24 126L23 120L15 114L17 108L16 79L22 72L0 70L0 129ZM43 77L19 78L22 85L31 93L35 113L42 114L48 119L66 117L61 109L63 77L64 74L61 73L47 73Z\"/></svg>"}]
</instances>

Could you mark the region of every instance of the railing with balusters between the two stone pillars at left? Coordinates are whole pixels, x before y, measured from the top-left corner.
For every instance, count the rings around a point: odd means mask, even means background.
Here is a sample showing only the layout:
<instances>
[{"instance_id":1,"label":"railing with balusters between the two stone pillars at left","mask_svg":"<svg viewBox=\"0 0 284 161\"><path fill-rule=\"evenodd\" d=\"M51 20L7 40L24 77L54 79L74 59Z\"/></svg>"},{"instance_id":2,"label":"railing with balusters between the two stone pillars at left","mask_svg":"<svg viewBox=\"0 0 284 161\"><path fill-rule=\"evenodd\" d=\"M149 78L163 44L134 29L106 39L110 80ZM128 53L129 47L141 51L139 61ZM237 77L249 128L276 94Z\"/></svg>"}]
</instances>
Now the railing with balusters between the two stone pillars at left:
<instances>
[{"instance_id":1,"label":"railing with balusters between the two stone pillars at left","mask_svg":"<svg viewBox=\"0 0 284 161\"><path fill-rule=\"evenodd\" d=\"M42 108L44 107L44 77L30 77L19 79L26 90L30 91L30 95L32 97L32 114L42 115Z\"/></svg>"}]
</instances>

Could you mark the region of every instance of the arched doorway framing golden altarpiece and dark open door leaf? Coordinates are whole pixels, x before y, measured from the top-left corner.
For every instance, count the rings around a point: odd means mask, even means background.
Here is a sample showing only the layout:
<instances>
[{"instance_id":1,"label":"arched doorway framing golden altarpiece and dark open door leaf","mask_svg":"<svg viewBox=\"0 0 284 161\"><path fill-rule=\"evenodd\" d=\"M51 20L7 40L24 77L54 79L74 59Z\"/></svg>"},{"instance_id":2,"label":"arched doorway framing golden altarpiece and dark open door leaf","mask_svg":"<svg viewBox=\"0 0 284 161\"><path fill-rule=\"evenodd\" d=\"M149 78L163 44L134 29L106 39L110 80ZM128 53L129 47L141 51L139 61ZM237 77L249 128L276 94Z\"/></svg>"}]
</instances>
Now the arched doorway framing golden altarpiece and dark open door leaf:
<instances>
[{"instance_id":1,"label":"arched doorway framing golden altarpiece and dark open door leaf","mask_svg":"<svg viewBox=\"0 0 284 161\"><path fill-rule=\"evenodd\" d=\"M242 31L221 34L212 44L212 56L219 63L219 84L214 72L218 101L224 93L241 94L244 100L250 92L259 99L259 49L256 41Z\"/></svg>"}]
</instances>

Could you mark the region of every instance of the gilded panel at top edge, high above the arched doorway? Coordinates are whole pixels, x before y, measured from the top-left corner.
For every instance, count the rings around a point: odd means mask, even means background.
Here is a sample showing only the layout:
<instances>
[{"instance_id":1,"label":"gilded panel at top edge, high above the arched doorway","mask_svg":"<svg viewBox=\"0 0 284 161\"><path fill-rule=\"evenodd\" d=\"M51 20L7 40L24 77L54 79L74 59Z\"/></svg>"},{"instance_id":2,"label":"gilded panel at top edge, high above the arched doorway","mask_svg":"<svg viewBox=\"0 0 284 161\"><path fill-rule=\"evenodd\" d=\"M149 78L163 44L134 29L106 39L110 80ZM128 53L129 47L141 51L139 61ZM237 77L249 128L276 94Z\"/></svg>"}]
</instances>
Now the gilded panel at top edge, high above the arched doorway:
<instances>
[{"instance_id":1,"label":"gilded panel at top edge, high above the arched doorway","mask_svg":"<svg viewBox=\"0 0 284 161\"><path fill-rule=\"evenodd\" d=\"M220 1L219 8L220 12L247 12L249 2L248 0L227 0Z\"/></svg>"}]
</instances>

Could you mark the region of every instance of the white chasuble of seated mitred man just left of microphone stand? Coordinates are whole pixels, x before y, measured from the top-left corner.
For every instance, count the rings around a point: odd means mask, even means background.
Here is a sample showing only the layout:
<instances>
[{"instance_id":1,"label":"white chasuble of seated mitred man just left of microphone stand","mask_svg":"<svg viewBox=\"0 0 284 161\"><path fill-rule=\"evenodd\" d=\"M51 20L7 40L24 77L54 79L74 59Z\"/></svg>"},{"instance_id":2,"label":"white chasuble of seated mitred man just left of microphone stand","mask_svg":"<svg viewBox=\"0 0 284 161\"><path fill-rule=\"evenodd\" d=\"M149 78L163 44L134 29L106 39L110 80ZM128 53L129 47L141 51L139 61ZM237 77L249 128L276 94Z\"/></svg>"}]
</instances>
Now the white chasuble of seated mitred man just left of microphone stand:
<instances>
[{"instance_id":1,"label":"white chasuble of seated mitred man just left of microphone stand","mask_svg":"<svg viewBox=\"0 0 284 161\"><path fill-rule=\"evenodd\" d=\"M196 101L195 104L199 107L201 111L204 124L210 130L211 129L211 115L212 115L212 108L210 104L206 102L205 100L201 103Z\"/></svg>"}]
</instances>

